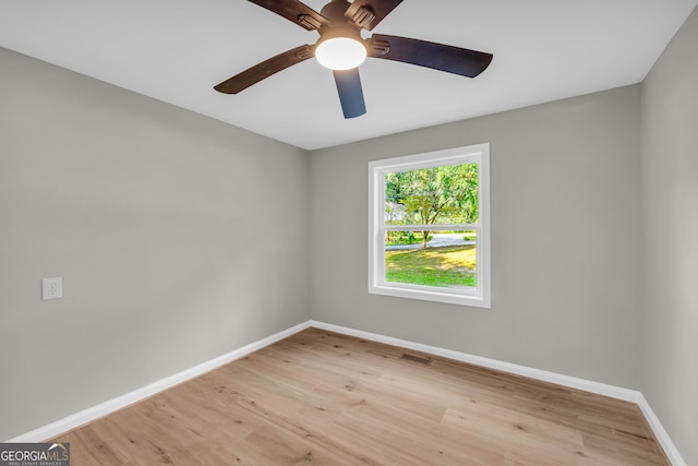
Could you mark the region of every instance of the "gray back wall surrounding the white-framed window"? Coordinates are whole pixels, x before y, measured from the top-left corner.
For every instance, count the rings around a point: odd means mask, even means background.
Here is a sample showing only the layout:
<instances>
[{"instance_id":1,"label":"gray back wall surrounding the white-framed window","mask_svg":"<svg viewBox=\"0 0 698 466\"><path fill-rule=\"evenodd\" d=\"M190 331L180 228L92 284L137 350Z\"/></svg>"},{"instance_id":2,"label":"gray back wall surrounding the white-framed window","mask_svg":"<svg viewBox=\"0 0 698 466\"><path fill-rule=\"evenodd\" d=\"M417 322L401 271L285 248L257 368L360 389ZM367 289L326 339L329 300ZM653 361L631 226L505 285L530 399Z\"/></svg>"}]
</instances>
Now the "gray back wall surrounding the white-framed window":
<instances>
[{"instance_id":1,"label":"gray back wall surrounding the white-framed window","mask_svg":"<svg viewBox=\"0 0 698 466\"><path fill-rule=\"evenodd\" d=\"M313 319L639 389L640 86L311 153ZM491 143L492 309L369 295L368 162Z\"/></svg>"}]
</instances>

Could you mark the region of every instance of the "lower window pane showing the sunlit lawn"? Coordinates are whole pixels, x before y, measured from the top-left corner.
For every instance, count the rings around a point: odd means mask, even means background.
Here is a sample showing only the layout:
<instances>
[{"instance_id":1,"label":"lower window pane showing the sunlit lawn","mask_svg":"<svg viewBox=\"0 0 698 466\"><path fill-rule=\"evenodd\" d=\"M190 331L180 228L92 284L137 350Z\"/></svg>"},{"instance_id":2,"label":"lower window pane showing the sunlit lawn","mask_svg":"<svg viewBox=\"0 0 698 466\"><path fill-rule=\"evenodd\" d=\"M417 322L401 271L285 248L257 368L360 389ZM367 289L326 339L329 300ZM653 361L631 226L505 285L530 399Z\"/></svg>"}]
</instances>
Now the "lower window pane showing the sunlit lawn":
<instances>
[{"instance_id":1,"label":"lower window pane showing the sunlit lawn","mask_svg":"<svg viewBox=\"0 0 698 466\"><path fill-rule=\"evenodd\" d=\"M389 231L385 238L385 280L442 288L476 287L474 231Z\"/></svg>"}]
</instances>

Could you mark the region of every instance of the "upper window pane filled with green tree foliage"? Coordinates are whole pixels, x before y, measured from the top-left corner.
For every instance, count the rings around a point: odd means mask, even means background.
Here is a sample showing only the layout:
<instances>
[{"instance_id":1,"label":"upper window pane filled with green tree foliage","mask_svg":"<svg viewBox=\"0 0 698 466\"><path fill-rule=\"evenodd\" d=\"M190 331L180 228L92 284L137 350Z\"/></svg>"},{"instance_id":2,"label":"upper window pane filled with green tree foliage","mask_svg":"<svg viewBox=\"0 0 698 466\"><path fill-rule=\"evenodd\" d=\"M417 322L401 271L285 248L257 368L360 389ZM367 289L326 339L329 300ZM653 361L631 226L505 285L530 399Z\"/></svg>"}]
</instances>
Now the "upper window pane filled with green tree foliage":
<instances>
[{"instance_id":1,"label":"upper window pane filled with green tree foliage","mask_svg":"<svg viewBox=\"0 0 698 466\"><path fill-rule=\"evenodd\" d=\"M385 176L385 225L478 223L478 164Z\"/></svg>"}]
</instances>

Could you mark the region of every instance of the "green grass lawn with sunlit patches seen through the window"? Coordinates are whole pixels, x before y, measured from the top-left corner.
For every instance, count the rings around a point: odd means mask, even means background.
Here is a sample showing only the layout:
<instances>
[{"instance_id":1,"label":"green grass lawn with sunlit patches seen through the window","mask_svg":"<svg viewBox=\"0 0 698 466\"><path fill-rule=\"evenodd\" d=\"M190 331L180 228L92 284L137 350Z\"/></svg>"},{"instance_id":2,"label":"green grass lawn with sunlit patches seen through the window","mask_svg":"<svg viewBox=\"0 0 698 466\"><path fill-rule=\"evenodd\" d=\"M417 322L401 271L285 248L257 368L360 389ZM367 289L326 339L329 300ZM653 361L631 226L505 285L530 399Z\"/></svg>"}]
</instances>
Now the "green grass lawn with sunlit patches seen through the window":
<instances>
[{"instance_id":1,"label":"green grass lawn with sunlit patches seen through the window","mask_svg":"<svg viewBox=\"0 0 698 466\"><path fill-rule=\"evenodd\" d=\"M476 246L385 251L385 279L455 288L477 286Z\"/></svg>"}]
</instances>

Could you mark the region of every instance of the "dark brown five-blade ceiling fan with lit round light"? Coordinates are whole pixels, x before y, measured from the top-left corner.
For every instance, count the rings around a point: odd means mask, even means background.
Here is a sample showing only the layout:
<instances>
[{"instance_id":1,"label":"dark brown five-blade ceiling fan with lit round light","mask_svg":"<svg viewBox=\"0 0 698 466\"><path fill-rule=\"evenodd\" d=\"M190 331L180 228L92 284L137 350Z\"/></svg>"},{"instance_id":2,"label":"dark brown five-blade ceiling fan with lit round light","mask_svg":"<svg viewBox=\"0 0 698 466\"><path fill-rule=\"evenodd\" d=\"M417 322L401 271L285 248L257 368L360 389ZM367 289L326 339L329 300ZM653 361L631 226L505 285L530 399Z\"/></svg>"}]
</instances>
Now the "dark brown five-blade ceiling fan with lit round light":
<instances>
[{"instance_id":1,"label":"dark brown five-blade ceiling fan with lit round light","mask_svg":"<svg viewBox=\"0 0 698 466\"><path fill-rule=\"evenodd\" d=\"M366 57L401 61L419 67L476 77L492 61L491 53L408 37L373 34L364 39L361 29L372 31L402 0L332 0L316 12L298 0L250 0L308 31L317 31L314 45L302 45L236 74L214 88L225 94L239 92L309 58L315 57L333 70L345 118L366 112L359 64Z\"/></svg>"}]
</instances>

